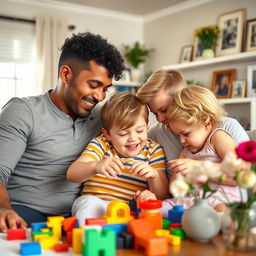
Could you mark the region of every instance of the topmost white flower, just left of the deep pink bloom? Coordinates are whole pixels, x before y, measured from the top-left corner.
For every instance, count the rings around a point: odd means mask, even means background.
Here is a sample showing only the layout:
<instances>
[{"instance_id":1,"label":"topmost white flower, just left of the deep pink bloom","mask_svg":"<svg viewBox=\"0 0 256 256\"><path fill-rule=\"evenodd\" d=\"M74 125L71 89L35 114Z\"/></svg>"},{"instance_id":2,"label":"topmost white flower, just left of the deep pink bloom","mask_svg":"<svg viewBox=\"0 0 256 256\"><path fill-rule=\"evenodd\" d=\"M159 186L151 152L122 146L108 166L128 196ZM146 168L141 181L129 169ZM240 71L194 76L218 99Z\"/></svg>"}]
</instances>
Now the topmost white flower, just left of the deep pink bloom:
<instances>
[{"instance_id":1,"label":"topmost white flower, just left of the deep pink bloom","mask_svg":"<svg viewBox=\"0 0 256 256\"><path fill-rule=\"evenodd\" d=\"M228 152L221 163L221 170L227 176L233 178L235 177L236 171L240 168L241 164L241 159L237 158L233 152Z\"/></svg>"}]
</instances>

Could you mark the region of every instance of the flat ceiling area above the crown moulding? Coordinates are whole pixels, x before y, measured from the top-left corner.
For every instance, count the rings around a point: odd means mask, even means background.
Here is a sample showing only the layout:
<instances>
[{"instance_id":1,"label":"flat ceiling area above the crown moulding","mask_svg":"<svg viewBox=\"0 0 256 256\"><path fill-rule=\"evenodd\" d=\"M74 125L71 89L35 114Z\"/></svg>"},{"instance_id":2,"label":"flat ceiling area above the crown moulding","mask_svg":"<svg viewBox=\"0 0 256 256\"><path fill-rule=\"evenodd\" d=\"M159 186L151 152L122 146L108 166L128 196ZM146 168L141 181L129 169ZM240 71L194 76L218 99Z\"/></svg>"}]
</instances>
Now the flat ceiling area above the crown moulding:
<instances>
[{"instance_id":1,"label":"flat ceiling area above the crown moulding","mask_svg":"<svg viewBox=\"0 0 256 256\"><path fill-rule=\"evenodd\" d=\"M55 0L87 7L145 16L191 0Z\"/></svg>"}]
</instances>

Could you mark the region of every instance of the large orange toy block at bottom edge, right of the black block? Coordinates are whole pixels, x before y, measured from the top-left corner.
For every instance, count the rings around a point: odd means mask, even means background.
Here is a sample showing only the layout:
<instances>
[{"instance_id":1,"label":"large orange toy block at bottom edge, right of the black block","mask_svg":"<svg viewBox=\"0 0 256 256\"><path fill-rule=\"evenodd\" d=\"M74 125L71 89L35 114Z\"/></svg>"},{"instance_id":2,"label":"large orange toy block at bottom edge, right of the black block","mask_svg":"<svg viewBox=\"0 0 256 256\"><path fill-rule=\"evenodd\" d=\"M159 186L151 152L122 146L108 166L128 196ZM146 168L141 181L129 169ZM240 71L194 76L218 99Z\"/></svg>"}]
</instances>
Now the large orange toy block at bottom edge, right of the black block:
<instances>
[{"instance_id":1,"label":"large orange toy block at bottom edge, right of the black block","mask_svg":"<svg viewBox=\"0 0 256 256\"><path fill-rule=\"evenodd\" d=\"M135 237L135 249L145 248L145 255L147 256L167 255L167 239L156 236L146 219L132 220L128 223L127 228L128 232Z\"/></svg>"}]
</instances>

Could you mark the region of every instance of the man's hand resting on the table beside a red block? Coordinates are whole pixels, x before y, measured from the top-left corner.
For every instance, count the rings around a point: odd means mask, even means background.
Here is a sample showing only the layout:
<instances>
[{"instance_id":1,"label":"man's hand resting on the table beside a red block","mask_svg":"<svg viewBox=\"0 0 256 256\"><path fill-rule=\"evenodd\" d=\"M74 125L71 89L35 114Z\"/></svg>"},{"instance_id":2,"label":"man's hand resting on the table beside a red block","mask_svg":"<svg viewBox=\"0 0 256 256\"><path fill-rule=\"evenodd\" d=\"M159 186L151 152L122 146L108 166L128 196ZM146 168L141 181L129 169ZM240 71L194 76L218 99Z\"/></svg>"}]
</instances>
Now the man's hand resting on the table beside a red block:
<instances>
[{"instance_id":1,"label":"man's hand resting on the table beside a red block","mask_svg":"<svg viewBox=\"0 0 256 256\"><path fill-rule=\"evenodd\" d=\"M27 228L27 223L12 209L0 210L0 232L6 233L7 229Z\"/></svg>"}]
</instances>

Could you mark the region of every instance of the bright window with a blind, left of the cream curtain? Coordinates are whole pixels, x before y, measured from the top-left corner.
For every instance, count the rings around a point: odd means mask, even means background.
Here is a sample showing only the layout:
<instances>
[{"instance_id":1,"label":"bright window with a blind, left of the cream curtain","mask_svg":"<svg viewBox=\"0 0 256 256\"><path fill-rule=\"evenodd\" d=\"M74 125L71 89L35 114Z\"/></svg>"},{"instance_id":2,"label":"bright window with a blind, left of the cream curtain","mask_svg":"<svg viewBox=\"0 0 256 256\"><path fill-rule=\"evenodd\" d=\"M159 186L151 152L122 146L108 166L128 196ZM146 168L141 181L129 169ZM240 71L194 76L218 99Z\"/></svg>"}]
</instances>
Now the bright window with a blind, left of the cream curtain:
<instances>
[{"instance_id":1,"label":"bright window with a blind, left of the cream curtain","mask_svg":"<svg viewBox=\"0 0 256 256\"><path fill-rule=\"evenodd\" d=\"M0 108L12 97L36 94L35 26L0 20Z\"/></svg>"}]
</instances>

